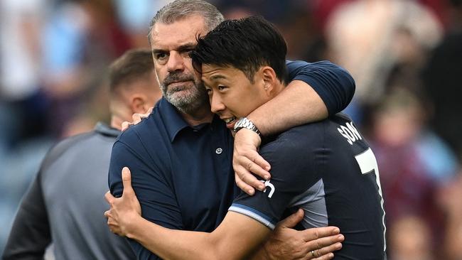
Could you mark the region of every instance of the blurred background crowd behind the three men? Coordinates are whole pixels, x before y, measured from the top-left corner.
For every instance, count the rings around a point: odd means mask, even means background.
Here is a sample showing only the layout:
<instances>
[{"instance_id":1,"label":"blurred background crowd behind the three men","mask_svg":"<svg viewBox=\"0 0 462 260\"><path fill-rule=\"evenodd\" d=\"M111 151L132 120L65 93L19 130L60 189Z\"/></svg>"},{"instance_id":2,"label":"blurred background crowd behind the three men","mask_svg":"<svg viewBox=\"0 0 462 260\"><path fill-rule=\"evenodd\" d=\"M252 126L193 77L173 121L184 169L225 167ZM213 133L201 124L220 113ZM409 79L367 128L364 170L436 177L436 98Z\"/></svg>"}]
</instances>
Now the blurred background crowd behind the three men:
<instances>
[{"instance_id":1,"label":"blurred background crowd behind the three men","mask_svg":"<svg viewBox=\"0 0 462 260\"><path fill-rule=\"evenodd\" d=\"M0 1L0 254L48 148L109 121L104 72L148 47L168 0ZM262 15L289 59L355 78L346 109L377 156L389 259L462 259L462 0L213 0Z\"/></svg>"}]
</instances>

